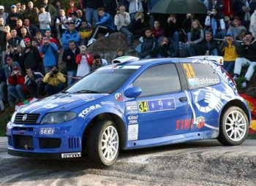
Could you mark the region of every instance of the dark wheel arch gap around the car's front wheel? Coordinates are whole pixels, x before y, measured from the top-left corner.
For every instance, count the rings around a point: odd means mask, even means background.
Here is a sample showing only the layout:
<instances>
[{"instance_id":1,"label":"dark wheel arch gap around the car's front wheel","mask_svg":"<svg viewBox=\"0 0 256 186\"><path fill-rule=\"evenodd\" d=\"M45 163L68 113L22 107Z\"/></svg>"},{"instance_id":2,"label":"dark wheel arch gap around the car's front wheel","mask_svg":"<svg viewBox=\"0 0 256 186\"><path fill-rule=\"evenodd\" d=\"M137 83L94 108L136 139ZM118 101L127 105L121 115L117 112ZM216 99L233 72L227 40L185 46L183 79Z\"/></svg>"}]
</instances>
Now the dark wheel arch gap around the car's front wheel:
<instances>
[{"instance_id":1,"label":"dark wheel arch gap around the car's front wheel","mask_svg":"<svg viewBox=\"0 0 256 186\"><path fill-rule=\"evenodd\" d=\"M84 129L83 139L82 139L83 152L86 151L86 140L87 140L88 133L91 131L91 128L93 127L93 125L95 123L97 123L97 121L99 121L99 120L111 120L111 121L113 121L113 123L115 123L117 125L117 130L119 133L119 140L120 140L120 149L124 149L124 147L126 145L126 140L127 140L127 132L126 132L127 128L124 123L124 120L122 120L122 118L116 114L113 114L110 112L105 112L105 113L101 113L99 115L95 115L91 119L89 124L86 126L86 128Z\"/></svg>"}]
</instances>

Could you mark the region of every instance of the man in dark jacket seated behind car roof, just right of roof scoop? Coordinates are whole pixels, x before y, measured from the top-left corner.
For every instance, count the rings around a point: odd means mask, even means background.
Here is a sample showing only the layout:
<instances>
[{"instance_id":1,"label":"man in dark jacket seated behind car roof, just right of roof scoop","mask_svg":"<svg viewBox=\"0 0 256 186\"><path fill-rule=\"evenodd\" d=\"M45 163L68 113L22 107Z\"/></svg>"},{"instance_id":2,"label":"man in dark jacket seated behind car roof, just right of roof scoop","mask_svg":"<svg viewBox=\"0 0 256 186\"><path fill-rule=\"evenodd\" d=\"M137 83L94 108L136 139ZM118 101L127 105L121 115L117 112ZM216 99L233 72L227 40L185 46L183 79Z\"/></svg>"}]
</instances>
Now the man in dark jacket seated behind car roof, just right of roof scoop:
<instances>
[{"instance_id":1,"label":"man in dark jacket seated behind car roof, just right of roof scoop","mask_svg":"<svg viewBox=\"0 0 256 186\"><path fill-rule=\"evenodd\" d=\"M158 42L152 36L152 32L149 28L145 30L146 38L143 39L143 43L141 44L141 51L139 53L140 58L154 58L157 56Z\"/></svg>"}]
</instances>

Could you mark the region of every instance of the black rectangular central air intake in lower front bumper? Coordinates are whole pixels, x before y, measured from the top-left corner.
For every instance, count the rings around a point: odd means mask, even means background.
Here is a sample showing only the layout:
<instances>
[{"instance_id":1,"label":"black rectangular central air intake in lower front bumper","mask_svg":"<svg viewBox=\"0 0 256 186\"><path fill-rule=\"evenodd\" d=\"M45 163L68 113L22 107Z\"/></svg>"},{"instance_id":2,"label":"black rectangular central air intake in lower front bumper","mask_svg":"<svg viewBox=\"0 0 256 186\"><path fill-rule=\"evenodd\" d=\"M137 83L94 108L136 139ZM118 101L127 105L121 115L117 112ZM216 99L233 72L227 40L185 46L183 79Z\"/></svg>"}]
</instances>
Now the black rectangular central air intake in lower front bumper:
<instances>
[{"instance_id":1,"label":"black rectangular central air intake in lower front bumper","mask_svg":"<svg viewBox=\"0 0 256 186\"><path fill-rule=\"evenodd\" d=\"M14 147L23 150L34 150L33 136L14 135Z\"/></svg>"}]
</instances>

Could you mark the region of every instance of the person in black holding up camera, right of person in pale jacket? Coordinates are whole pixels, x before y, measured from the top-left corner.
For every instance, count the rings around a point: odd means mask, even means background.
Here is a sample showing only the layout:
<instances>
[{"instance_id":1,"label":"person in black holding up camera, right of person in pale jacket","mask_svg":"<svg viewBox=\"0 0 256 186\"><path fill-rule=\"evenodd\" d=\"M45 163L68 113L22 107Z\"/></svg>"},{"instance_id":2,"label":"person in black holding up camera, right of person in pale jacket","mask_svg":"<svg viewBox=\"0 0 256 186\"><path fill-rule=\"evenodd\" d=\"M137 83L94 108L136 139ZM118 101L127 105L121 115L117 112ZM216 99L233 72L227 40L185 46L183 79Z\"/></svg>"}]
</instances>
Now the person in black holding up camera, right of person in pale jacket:
<instances>
[{"instance_id":1,"label":"person in black holding up camera, right of person in pale jacket","mask_svg":"<svg viewBox=\"0 0 256 186\"><path fill-rule=\"evenodd\" d=\"M144 20L143 12L137 12L135 14L135 18L131 19L131 24L129 25L129 31L132 32L133 36L144 36L145 28L147 27L146 22Z\"/></svg>"}]
</instances>

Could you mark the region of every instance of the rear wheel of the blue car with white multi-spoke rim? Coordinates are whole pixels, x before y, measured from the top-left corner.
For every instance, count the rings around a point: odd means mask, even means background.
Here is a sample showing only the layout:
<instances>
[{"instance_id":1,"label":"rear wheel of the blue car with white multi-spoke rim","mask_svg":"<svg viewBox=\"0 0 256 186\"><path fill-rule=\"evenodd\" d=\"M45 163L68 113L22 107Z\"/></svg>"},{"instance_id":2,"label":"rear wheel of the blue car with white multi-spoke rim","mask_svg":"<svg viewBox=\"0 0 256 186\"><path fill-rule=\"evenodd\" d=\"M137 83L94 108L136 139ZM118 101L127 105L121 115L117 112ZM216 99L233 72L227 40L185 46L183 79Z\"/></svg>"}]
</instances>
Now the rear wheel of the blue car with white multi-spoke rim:
<instances>
[{"instance_id":1,"label":"rear wheel of the blue car with white multi-spoke rim","mask_svg":"<svg viewBox=\"0 0 256 186\"><path fill-rule=\"evenodd\" d=\"M249 121L246 113L238 106L230 106L222 115L218 141L224 145L238 145L248 135Z\"/></svg>"}]
</instances>

